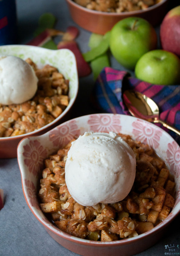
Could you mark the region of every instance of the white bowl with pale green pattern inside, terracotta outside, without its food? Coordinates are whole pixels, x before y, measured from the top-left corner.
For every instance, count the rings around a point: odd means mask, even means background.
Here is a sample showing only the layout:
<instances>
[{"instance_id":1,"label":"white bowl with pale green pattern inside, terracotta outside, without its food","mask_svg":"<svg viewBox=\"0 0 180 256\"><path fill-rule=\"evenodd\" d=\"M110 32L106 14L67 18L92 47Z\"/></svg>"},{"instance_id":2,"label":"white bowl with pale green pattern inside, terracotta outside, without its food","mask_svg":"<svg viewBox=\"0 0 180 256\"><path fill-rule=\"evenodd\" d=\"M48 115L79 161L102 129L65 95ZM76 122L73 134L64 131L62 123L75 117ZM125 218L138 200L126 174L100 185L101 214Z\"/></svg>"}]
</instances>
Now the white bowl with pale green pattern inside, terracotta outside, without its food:
<instances>
[{"instance_id":1,"label":"white bowl with pale green pattern inside, terracotta outside, without its food","mask_svg":"<svg viewBox=\"0 0 180 256\"><path fill-rule=\"evenodd\" d=\"M0 55L15 55L24 60L30 57L39 68L43 67L45 64L50 64L57 67L64 77L70 81L69 105L53 122L31 133L14 137L0 137L0 158L10 158L17 157L17 146L22 138L45 133L63 122L69 114L77 97L78 75L74 54L67 49L49 50L42 47L28 45L5 45L0 47Z\"/></svg>"}]
</instances>

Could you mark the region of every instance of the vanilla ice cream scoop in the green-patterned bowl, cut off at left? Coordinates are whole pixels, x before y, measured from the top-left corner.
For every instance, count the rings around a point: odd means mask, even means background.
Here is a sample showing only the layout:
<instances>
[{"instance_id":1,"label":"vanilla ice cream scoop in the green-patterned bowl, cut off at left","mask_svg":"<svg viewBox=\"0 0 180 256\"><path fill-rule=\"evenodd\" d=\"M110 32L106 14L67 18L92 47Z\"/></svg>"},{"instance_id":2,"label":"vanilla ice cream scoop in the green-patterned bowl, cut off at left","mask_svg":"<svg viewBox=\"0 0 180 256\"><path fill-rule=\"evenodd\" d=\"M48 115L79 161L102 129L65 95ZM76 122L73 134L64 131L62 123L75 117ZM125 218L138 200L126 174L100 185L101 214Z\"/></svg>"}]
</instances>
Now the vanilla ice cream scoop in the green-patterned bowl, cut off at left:
<instances>
[{"instance_id":1,"label":"vanilla ice cream scoop in the green-patterned bowl, cut off at left","mask_svg":"<svg viewBox=\"0 0 180 256\"><path fill-rule=\"evenodd\" d=\"M21 58L0 56L0 103L20 104L37 91L38 78L33 68Z\"/></svg>"}]
</instances>

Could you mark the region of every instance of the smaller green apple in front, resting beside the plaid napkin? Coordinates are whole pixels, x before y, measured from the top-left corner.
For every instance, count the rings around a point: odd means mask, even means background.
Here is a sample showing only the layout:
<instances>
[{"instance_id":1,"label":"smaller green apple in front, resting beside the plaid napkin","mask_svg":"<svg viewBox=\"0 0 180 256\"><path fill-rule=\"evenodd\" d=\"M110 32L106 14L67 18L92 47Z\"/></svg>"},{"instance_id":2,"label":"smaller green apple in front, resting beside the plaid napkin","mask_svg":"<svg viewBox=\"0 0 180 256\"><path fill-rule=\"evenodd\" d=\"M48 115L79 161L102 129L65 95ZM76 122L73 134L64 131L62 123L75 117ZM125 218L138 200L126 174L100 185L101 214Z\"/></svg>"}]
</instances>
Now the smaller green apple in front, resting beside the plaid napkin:
<instances>
[{"instance_id":1,"label":"smaller green apple in front, resting beside the plaid napkin","mask_svg":"<svg viewBox=\"0 0 180 256\"><path fill-rule=\"evenodd\" d=\"M137 62L135 76L152 84L180 84L180 59L165 50L149 51Z\"/></svg>"}]
</instances>

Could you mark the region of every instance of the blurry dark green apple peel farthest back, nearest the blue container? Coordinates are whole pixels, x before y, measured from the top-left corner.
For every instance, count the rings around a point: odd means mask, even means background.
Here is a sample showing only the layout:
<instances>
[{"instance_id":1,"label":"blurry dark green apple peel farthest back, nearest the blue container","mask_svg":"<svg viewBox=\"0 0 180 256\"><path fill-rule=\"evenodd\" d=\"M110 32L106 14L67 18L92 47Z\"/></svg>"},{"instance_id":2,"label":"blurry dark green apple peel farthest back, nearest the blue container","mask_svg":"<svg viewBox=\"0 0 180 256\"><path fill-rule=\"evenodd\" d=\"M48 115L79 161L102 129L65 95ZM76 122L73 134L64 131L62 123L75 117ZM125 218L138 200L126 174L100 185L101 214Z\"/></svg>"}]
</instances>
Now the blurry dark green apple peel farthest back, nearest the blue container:
<instances>
[{"instance_id":1,"label":"blurry dark green apple peel farthest back, nearest the blue container","mask_svg":"<svg viewBox=\"0 0 180 256\"><path fill-rule=\"evenodd\" d=\"M40 16L38 20L38 28L34 32L34 36L38 36L45 29L52 29L56 22L56 18L51 13L44 13Z\"/></svg>"}]
</instances>

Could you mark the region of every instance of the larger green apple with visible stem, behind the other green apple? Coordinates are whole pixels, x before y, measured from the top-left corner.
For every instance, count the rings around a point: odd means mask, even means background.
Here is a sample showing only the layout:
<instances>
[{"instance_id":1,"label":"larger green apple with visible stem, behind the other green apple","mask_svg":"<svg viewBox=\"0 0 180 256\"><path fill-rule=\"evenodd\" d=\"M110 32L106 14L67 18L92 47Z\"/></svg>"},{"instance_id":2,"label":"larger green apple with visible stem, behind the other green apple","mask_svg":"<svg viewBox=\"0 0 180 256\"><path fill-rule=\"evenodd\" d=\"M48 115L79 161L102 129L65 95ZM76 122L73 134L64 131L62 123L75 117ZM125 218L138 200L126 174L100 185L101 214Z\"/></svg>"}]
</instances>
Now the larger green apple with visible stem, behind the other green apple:
<instances>
[{"instance_id":1,"label":"larger green apple with visible stem, behind the other green apple","mask_svg":"<svg viewBox=\"0 0 180 256\"><path fill-rule=\"evenodd\" d=\"M129 17L111 29L110 50L124 67L133 70L139 58L157 47L157 34L145 19Z\"/></svg>"}]
</instances>

